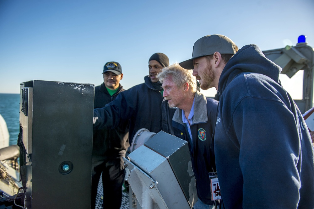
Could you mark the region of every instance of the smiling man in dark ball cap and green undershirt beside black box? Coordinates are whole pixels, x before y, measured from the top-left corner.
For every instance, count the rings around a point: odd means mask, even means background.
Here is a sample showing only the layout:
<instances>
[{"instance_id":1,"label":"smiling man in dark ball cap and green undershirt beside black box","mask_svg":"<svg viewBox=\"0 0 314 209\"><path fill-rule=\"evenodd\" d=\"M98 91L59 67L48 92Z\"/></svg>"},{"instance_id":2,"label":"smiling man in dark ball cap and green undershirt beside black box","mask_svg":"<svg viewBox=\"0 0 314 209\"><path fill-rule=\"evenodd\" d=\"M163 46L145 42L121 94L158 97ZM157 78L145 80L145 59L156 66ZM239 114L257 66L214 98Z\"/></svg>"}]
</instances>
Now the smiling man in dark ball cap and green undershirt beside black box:
<instances>
[{"instance_id":1,"label":"smiling man in dark ball cap and green undershirt beside black box","mask_svg":"<svg viewBox=\"0 0 314 209\"><path fill-rule=\"evenodd\" d=\"M95 87L94 108L104 107L124 91L120 84L123 78L122 67L118 62L107 62L102 77L104 82ZM125 157L129 146L127 124L121 124L114 129L94 130L91 208L95 208L101 174L106 207L120 208L124 181L122 157Z\"/></svg>"}]
</instances>

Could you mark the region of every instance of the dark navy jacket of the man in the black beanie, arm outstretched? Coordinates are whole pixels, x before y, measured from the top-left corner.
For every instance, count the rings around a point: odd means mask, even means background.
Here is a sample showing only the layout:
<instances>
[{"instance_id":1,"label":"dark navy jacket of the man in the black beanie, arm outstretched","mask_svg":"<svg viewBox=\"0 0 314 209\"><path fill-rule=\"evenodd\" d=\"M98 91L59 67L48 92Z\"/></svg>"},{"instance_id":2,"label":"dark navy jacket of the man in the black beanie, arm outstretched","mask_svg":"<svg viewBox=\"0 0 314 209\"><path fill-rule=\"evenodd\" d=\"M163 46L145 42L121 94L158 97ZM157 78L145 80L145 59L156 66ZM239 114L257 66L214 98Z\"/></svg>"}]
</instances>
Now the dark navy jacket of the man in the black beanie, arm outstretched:
<instances>
[{"instance_id":1,"label":"dark navy jacket of the man in the black beanie, arm outstretched","mask_svg":"<svg viewBox=\"0 0 314 209\"><path fill-rule=\"evenodd\" d=\"M115 128L130 121L130 143L135 133L146 128L151 132L165 131L174 134L171 126L175 109L163 102L161 92L153 87L148 76L145 83L138 84L121 92L117 98L103 108L94 110L94 117L98 117L94 129Z\"/></svg>"}]
</instances>

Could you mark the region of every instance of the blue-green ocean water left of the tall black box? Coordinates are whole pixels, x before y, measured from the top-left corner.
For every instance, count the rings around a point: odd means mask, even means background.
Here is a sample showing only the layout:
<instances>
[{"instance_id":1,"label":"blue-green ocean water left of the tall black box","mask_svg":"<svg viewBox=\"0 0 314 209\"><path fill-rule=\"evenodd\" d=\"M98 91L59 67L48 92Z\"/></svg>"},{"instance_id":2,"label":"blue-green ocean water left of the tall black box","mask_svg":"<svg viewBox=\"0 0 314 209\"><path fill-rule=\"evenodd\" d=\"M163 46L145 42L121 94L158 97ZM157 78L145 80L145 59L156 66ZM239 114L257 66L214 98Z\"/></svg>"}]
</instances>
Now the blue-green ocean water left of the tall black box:
<instances>
[{"instance_id":1,"label":"blue-green ocean water left of the tall black box","mask_svg":"<svg viewBox=\"0 0 314 209\"><path fill-rule=\"evenodd\" d=\"M0 94L0 114L8 126L9 144L16 144L19 135L19 94Z\"/></svg>"}]
</instances>

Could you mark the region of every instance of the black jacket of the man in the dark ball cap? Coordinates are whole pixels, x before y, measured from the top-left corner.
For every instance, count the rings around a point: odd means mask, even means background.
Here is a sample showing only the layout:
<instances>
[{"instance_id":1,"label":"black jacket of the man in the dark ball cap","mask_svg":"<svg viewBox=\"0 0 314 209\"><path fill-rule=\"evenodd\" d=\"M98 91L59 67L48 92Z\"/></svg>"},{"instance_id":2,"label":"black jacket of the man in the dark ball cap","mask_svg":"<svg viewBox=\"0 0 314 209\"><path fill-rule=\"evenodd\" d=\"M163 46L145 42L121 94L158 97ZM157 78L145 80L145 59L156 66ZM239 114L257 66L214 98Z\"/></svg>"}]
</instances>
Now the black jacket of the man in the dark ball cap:
<instances>
[{"instance_id":1,"label":"black jacket of the man in the dark ball cap","mask_svg":"<svg viewBox=\"0 0 314 209\"><path fill-rule=\"evenodd\" d=\"M110 96L106 86L102 83L95 87L94 108L104 107L116 99L124 89L119 84L118 91ZM93 156L106 156L108 158L119 157L121 150L127 150L128 142L127 123L121 124L114 129L99 129L93 132ZM123 152L122 152L123 153Z\"/></svg>"}]
</instances>

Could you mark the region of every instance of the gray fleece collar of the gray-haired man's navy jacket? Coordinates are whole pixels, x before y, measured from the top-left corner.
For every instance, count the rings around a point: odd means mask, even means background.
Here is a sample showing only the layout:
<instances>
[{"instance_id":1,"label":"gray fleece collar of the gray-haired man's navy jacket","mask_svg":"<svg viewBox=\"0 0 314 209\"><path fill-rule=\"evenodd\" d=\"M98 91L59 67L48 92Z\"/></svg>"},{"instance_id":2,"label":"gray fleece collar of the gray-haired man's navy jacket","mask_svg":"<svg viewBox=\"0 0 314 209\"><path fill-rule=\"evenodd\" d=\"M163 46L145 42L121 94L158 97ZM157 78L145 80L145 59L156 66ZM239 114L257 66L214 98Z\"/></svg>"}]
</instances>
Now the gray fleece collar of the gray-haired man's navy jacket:
<instances>
[{"instance_id":1,"label":"gray fleece collar of the gray-haired man's navy jacket","mask_svg":"<svg viewBox=\"0 0 314 209\"><path fill-rule=\"evenodd\" d=\"M191 126L193 124L206 123L208 121L206 104L207 100L204 94L200 93L199 91L196 91L194 102L194 116ZM184 125L184 123L182 122L182 110L180 108L176 110L172 120Z\"/></svg>"}]
</instances>

